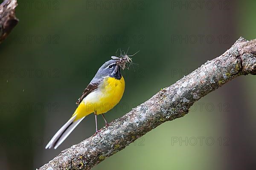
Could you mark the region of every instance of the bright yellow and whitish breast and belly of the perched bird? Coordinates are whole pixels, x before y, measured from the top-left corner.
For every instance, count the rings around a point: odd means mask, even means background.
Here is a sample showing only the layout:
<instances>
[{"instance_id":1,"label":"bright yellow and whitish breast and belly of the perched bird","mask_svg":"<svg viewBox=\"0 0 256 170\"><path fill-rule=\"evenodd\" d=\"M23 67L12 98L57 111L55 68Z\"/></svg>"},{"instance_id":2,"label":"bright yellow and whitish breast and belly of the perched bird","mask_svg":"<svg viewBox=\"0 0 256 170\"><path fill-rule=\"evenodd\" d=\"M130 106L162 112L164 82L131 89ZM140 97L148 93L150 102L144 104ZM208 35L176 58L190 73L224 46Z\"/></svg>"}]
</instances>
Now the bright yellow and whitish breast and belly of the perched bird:
<instances>
[{"instance_id":1,"label":"bright yellow and whitish breast and belly of the perched bird","mask_svg":"<svg viewBox=\"0 0 256 170\"><path fill-rule=\"evenodd\" d=\"M88 94L79 104L75 113L76 120L90 113L97 115L111 110L122 98L125 91L125 79L106 77L96 91Z\"/></svg>"}]
</instances>

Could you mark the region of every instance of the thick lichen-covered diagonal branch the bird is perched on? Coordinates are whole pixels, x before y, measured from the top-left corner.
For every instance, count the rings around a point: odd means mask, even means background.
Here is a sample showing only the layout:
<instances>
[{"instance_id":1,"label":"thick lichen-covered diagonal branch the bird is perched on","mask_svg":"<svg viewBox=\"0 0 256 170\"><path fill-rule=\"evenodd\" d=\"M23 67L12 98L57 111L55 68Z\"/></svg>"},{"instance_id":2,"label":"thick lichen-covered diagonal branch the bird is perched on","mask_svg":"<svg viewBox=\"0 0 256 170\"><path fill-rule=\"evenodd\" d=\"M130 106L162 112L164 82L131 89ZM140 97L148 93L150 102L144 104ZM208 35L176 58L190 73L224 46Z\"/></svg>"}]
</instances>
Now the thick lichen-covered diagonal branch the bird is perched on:
<instances>
[{"instance_id":1,"label":"thick lichen-covered diagonal branch the bird is perched on","mask_svg":"<svg viewBox=\"0 0 256 170\"><path fill-rule=\"evenodd\" d=\"M40 170L89 170L163 122L184 116L201 97L231 79L247 74L256 75L256 40L247 41L240 37L220 57L207 61L114 120L101 129L100 136L91 136L63 150Z\"/></svg>"}]
</instances>

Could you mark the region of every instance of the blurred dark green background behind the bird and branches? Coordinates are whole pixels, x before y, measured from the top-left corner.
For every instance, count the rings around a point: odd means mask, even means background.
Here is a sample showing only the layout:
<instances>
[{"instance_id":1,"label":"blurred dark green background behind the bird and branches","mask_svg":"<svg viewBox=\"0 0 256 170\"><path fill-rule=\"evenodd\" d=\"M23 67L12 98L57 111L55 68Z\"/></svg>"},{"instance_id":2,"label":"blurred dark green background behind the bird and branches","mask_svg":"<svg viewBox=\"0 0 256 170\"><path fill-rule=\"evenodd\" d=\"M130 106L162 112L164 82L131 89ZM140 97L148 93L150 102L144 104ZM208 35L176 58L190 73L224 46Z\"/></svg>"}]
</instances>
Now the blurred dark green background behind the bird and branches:
<instances>
[{"instance_id":1,"label":"blurred dark green background behind the bird and branches","mask_svg":"<svg viewBox=\"0 0 256 170\"><path fill-rule=\"evenodd\" d=\"M70 118L97 69L118 48L134 54L121 102L109 121L161 88L256 38L256 1L19 1L20 22L0 44L0 165L41 167L95 133L89 115L58 147L44 147ZM201 5L200 5L201 4ZM253 169L256 79L242 76L200 99L93 170ZM100 127L104 126L99 117Z\"/></svg>"}]
</instances>

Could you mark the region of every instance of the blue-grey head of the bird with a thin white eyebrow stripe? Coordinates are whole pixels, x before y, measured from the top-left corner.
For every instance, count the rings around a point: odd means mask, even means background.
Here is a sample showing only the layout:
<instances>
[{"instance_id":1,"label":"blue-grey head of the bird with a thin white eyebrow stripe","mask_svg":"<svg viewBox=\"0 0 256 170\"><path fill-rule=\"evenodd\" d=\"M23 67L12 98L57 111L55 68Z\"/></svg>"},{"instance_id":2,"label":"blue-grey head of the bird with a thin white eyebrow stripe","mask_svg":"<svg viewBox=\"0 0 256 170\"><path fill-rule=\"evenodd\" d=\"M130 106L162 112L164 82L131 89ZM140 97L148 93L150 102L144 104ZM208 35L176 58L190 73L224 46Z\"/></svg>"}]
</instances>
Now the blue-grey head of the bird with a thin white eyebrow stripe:
<instances>
[{"instance_id":1,"label":"blue-grey head of the bird with a thin white eyebrow stripe","mask_svg":"<svg viewBox=\"0 0 256 170\"><path fill-rule=\"evenodd\" d=\"M121 79L120 66L116 63L116 59L111 59L105 62L96 73L96 77L113 77L115 79Z\"/></svg>"}]
</instances>

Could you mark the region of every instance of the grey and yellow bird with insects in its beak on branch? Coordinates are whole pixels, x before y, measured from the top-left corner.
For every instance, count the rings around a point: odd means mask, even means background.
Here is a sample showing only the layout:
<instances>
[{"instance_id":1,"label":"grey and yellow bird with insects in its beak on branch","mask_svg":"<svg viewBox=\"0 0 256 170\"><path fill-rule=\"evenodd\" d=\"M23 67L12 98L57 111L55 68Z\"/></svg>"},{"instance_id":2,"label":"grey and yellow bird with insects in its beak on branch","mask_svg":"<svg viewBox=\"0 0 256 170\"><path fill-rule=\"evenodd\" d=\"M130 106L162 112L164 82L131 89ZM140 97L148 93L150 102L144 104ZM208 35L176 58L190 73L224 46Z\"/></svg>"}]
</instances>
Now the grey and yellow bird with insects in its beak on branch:
<instances>
[{"instance_id":1,"label":"grey and yellow bird with insects in its beak on branch","mask_svg":"<svg viewBox=\"0 0 256 170\"><path fill-rule=\"evenodd\" d=\"M127 62L131 62L128 55L111 57L97 71L87 88L84 89L76 104L78 107L71 118L55 133L45 149L56 149L77 125L87 115L94 113L96 123L96 134L99 133L97 126L97 115L102 115L105 125L108 125L104 113L111 110L121 100L125 91L125 79L120 72L125 68Z\"/></svg>"}]
</instances>

